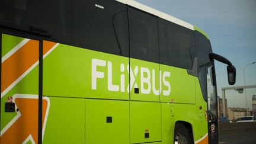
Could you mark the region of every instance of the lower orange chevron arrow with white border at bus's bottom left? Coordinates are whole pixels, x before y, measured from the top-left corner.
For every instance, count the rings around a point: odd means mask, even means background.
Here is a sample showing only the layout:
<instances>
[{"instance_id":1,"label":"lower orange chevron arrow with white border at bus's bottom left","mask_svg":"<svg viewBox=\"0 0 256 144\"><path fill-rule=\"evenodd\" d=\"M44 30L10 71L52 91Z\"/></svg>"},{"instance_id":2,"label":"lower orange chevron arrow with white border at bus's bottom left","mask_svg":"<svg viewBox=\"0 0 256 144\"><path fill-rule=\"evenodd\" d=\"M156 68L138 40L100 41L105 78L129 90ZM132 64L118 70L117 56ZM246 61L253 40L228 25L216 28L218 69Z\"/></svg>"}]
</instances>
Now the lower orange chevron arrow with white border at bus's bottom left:
<instances>
[{"instance_id":1,"label":"lower orange chevron arrow with white border at bus's bottom left","mask_svg":"<svg viewBox=\"0 0 256 144\"><path fill-rule=\"evenodd\" d=\"M23 143L31 135L38 142L38 99L17 98L15 104L21 110L21 117L1 136L2 144ZM47 100L43 100L43 123L46 116ZM21 130L22 129L22 130Z\"/></svg>"}]
</instances>

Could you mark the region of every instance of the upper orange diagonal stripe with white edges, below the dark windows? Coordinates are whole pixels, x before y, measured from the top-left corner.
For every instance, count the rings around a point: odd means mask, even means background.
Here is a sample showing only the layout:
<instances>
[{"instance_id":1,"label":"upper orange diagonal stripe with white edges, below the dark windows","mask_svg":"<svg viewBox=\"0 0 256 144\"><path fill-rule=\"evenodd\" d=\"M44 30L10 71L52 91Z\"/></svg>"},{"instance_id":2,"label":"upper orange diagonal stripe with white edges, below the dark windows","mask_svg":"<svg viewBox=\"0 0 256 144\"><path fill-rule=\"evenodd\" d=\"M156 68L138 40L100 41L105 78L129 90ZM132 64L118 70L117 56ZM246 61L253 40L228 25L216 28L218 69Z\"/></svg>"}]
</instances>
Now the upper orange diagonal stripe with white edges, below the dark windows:
<instances>
[{"instance_id":1,"label":"upper orange diagonal stripe with white edges, below the dark windows","mask_svg":"<svg viewBox=\"0 0 256 144\"><path fill-rule=\"evenodd\" d=\"M4 41L3 41L4 42ZM56 43L43 41L43 55ZM39 41L30 40L2 63L1 92L39 60Z\"/></svg>"}]
</instances>

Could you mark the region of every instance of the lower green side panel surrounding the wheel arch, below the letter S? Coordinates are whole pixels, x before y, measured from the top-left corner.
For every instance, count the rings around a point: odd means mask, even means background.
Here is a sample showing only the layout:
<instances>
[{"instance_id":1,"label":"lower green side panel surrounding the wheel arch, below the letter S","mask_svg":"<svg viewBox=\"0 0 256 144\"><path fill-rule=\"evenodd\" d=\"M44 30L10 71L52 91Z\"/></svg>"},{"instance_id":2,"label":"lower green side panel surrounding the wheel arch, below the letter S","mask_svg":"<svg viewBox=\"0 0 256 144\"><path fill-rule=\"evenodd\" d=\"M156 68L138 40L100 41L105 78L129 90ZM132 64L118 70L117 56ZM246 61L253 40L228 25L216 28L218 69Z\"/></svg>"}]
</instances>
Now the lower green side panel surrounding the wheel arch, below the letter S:
<instances>
[{"instance_id":1,"label":"lower green side panel surrounding the wheel arch, below the letter S","mask_svg":"<svg viewBox=\"0 0 256 144\"><path fill-rule=\"evenodd\" d=\"M191 126L194 142L206 143L207 141L207 120L205 120L201 104L162 104L163 142L172 142L174 136L175 123L188 123ZM168 137L171 136L171 137Z\"/></svg>"}]
</instances>

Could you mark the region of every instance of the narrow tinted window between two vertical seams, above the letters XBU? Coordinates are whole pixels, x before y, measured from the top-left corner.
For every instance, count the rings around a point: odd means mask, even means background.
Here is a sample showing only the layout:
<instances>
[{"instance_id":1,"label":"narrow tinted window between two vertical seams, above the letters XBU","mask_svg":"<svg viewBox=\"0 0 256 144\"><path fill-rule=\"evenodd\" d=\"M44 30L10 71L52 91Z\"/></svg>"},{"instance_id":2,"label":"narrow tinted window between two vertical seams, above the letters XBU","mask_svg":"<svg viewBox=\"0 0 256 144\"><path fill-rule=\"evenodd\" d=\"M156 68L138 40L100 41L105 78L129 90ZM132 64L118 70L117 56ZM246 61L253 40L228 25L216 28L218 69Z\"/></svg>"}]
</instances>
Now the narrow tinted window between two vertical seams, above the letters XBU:
<instances>
[{"instance_id":1,"label":"narrow tinted window between two vertical seams, above the letters XBU","mask_svg":"<svg viewBox=\"0 0 256 144\"><path fill-rule=\"evenodd\" d=\"M159 62L157 18L129 8L130 57Z\"/></svg>"}]
</instances>

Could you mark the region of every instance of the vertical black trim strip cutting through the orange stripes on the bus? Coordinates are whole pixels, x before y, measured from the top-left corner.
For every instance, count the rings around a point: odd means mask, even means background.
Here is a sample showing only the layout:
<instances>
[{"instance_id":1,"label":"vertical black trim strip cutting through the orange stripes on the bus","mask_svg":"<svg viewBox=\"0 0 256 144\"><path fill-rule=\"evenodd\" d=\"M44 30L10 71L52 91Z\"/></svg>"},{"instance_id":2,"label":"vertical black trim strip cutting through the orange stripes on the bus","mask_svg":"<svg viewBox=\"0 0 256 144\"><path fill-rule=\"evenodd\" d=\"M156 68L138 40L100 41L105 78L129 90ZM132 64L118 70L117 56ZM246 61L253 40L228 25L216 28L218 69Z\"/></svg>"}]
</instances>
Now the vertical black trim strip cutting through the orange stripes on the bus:
<instances>
[{"instance_id":1,"label":"vertical black trim strip cutting through the orange stripes on the bus","mask_svg":"<svg viewBox=\"0 0 256 144\"><path fill-rule=\"evenodd\" d=\"M42 143L43 130L43 39L39 40L39 117L38 117L38 143Z\"/></svg>"}]
</instances>

